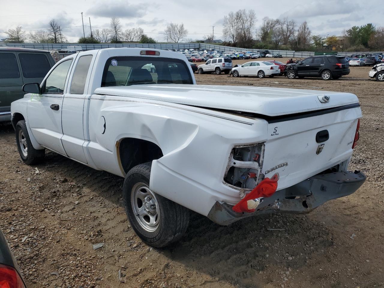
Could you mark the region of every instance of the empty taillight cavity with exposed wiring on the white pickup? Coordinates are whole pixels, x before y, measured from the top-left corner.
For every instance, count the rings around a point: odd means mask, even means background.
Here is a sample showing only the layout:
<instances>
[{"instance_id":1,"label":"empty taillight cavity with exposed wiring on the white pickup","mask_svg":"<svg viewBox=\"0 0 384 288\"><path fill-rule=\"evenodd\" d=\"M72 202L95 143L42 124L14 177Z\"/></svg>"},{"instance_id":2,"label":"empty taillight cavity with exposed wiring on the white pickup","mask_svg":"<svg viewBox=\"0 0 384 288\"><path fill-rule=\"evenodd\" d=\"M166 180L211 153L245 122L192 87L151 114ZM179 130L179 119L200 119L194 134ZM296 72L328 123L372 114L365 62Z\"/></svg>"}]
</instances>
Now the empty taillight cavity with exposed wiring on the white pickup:
<instances>
[{"instance_id":1,"label":"empty taillight cavity with exposed wiring on the white pickup","mask_svg":"<svg viewBox=\"0 0 384 288\"><path fill-rule=\"evenodd\" d=\"M236 146L229 156L224 182L236 189L253 189L262 179L264 143Z\"/></svg>"}]
</instances>

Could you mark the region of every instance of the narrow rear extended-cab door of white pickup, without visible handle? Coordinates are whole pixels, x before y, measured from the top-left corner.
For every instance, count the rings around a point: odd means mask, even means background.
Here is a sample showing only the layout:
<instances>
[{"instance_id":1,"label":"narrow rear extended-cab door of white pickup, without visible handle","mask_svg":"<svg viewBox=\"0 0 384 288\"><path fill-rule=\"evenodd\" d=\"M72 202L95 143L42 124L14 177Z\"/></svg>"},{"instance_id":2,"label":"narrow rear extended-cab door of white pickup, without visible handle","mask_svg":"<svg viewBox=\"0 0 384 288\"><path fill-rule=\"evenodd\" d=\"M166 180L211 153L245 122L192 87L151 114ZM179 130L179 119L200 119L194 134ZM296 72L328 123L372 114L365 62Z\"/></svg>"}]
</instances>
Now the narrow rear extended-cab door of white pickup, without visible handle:
<instances>
[{"instance_id":1,"label":"narrow rear extended-cab door of white pickup, without visible handle","mask_svg":"<svg viewBox=\"0 0 384 288\"><path fill-rule=\"evenodd\" d=\"M83 144L84 139L88 139L84 135L84 124L88 121L88 84L96 53L90 51L90 55L82 55L74 60L61 110L61 142L65 152L68 157L84 164L87 164Z\"/></svg>"}]
</instances>

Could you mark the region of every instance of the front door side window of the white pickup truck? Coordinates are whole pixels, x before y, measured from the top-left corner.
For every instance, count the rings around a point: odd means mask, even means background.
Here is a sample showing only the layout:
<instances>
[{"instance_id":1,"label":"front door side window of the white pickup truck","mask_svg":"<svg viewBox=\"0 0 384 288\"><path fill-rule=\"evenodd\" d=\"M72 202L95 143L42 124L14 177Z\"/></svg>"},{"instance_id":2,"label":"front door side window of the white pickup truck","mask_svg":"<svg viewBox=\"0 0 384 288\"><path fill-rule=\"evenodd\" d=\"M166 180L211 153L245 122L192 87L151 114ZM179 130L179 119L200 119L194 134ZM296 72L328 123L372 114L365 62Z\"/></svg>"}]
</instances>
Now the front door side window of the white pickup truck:
<instances>
[{"instance_id":1,"label":"front door side window of the white pickup truck","mask_svg":"<svg viewBox=\"0 0 384 288\"><path fill-rule=\"evenodd\" d=\"M61 62L45 80L42 93L63 94L65 80L68 75L73 58Z\"/></svg>"}]
</instances>

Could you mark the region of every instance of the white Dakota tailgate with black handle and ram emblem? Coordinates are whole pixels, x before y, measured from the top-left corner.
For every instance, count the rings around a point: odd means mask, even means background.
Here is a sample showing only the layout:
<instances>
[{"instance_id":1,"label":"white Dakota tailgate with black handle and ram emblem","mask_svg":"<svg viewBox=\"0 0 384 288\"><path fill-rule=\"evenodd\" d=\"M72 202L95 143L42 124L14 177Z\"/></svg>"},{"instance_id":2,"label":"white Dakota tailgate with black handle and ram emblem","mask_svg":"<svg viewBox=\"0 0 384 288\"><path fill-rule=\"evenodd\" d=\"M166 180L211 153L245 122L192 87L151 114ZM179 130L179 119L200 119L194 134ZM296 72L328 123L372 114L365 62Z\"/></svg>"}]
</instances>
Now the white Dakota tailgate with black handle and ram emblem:
<instances>
[{"instance_id":1,"label":"white Dakota tailgate with black handle and ram emblem","mask_svg":"<svg viewBox=\"0 0 384 288\"><path fill-rule=\"evenodd\" d=\"M353 139L361 116L361 109L357 107L299 119L268 121L262 173L272 177L278 172L280 190L347 161L353 152ZM320 137L316 141L320 131L319 136L328 132L329 139L324 141ZM317 154L322 144L323 150Z\"/></svg>"}]
</instances>

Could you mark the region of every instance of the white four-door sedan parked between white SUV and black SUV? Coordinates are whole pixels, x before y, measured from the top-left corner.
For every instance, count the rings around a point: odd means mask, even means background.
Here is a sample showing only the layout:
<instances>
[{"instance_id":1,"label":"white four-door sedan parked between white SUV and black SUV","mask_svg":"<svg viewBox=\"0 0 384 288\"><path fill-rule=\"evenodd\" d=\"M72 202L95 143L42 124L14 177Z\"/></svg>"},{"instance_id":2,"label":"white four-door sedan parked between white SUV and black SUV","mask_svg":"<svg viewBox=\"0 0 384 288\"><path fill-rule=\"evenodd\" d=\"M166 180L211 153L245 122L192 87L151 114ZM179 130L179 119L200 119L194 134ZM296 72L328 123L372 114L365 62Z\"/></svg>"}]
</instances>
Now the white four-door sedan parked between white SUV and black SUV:
<instances>
[{"instance_id":1,"label":"white four-door sedan parked between white SUV and black SUV","mask_svg":"<svg viewBox=\"0 0 384 288\"><path fill-rule=\"evenodd\" d=\"M273 77L280 74L280 67L268 61L250 61L243 65L232 68L233 77L239 76L265 76Z\"/></svg>"}]
</instances>

